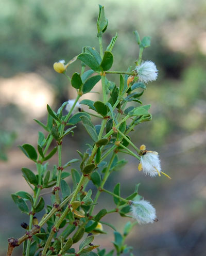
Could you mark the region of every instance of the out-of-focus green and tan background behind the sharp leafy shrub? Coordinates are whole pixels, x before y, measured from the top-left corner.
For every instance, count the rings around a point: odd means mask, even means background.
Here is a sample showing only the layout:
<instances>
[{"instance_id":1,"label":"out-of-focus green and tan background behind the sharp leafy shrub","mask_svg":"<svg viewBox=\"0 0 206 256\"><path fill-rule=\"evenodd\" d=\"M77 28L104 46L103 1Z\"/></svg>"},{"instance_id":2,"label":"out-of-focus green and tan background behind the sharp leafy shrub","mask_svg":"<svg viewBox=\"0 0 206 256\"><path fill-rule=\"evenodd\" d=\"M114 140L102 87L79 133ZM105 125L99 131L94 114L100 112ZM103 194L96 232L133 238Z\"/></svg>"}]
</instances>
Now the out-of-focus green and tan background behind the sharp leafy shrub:
<instances>
[{"instance_id":1,"label":"out-of-focus green and tan background behind the sharp leafy shrub","mask_svg":"<svg viewBox=\"0 0 206 256\"><path fill-rule=\"evenodd\" d=\"M65 76L55 73L53 63L59 59L67 62L85 45L98 49L98 4L105 6L109 19L104 46L116 32L119 35L113 49L112 70L126 71L138 56L134 30L139 31L141 38L152 38L143 59L156 63L159 76L155 83L148 84L142 101L144 105L152 104L153 119L138 126L131 137L137 146L144 143L149 150L158 151L163 171L172 178L144 177L138 171L136 159L122 155L129 164L112 175L107 188L113 189L120 181L122 196L127 196L135 184L141 183L139 193L156 207L159 219L150 225L136 226L126 242L134 247L134 255L140 256L205 255L204 0L7 0L0 3L0 255L5 255L8 237L20 237L24 233L20 223L28 221L10 194L22 189L30 191L21 168L35 170L35 166L17 145L37 145L37 131L42 129L33 119L45 122L47 103L57 109L76 96ZM68 74L79 70L80 62L76 61ZM119 77L109 78L118 83ZM87 96L98 98L98 94ZM83 132L79 124L75 136L65 140L63 162L78 158L73 149L87 149L85 143L90 138L82 138ZM52 163L57 163L57 158ZM111 209L110 196L101 200ZM115 214L109 218L120 232L128 221ZM95 242L109 250L113 234L111 229L106 230L109 239L103 235ZM21 255L21 248L14 255Z\"/></svg>"}]
</instances>

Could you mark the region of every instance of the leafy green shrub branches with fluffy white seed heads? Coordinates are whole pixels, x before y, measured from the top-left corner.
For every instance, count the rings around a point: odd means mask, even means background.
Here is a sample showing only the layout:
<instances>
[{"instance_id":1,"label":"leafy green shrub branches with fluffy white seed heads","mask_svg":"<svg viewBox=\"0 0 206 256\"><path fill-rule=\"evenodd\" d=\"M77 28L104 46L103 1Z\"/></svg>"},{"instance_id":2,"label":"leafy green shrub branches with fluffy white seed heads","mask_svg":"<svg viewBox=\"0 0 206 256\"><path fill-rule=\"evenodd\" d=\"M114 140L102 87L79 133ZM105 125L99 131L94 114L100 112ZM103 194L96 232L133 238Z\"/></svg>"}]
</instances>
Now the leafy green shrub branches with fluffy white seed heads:
<instances>
[{"instance_id":1,"label":"leafy green shrub branches with fluffy white seed heads","mask_svg":"<svg viewBox=\"0 0 206 256\"><path fill-rule=\"evenodd\" d=\"M7 255L11 255L16 246L23 245L23 255L71 255L71 256L112 256L127 254L132 256L132 247L125 244L125 238L132 228L139 224L157 221L156 210L138 194L137 184L127 198L121 197L120 184L114 184L113 191L105 188L105 183L112 172L116 172L127 164L120 160L118 153L125 153L136 158L136 170L142 171L149 177L165 175L161 170L159 155L155 151L148 151L144 145L138 148L131 141L129 134L135 131L135 126L150 121L150 105L144 105L140 100L146 90L148 82L155 81L158 70L152 61L143 61L142 55L146 47L150 46L150 37L142 40L137 31L134 36L139 45L139 57L134 60L135 66L122 71L109 71L113 65L112 50L117 40L116 34L104 51L102 35L108 26L104 7L99 5L97 19L97 38L99 52L94 47L84 46L82 52L65 64L64 60L54 63L54 70L65 75L71 86L77 91L74 100L68 100L59 107L57 113L47 105L47 124L35 120L43 129L39 132L37 149L30 144L19 146L22 152L37 167L37 174L28 168L22 168L25 181L32 193L18 191L12 194L14 203L22 213L29 215L29 222L23 222L26 230L20 238L9 238ZM137 47L138 48L138 47ZM79 61L81 71L72 77L66 71L72 62ZM107 74L119 76L119 83L109 81ZM101 81L102 101L81 100L81 96L93 90ZM84 110L89 106L89 112ZM68 113L63 115L65 109ZM95 118L94 125L91 116ZM64 137L75 136L77 125L83 125L91 139L85 152L77 150L78 158L67 159L62 163L62 143ZM50 149L55 140L57 146ZM49 151L49 152L48 152ZM48 165L48 160L58 153L58 163L54 167ZM79 162L79 167L72 168L73 163ZM70 167L72 169L70 169ZM70 170L70 171L68 171ZM136 174L138 175L138 173ZM73 187L65 181L71 177ZM93 183L97 187L96 194L88 189ZM45 205L42 190L52 188L50 204ZM108 193L116 204L115 209L107 210L99 202L99 195ZM99 204L102 209L94 214L94 207ZM42 212L42 219L38 220L36 213ZM128 217L123 234L107 222L108 214ZM104 217L104 221L102 218ZM107 225L114 232L114 250L108 252L99 249L95 243L95 235L107 238L104 226ZM79 245L75 245L79 243ZM75 245L75 246L74 246ZM78 249L77 249L78 248Z\"/></svg>"}]
</instances>

